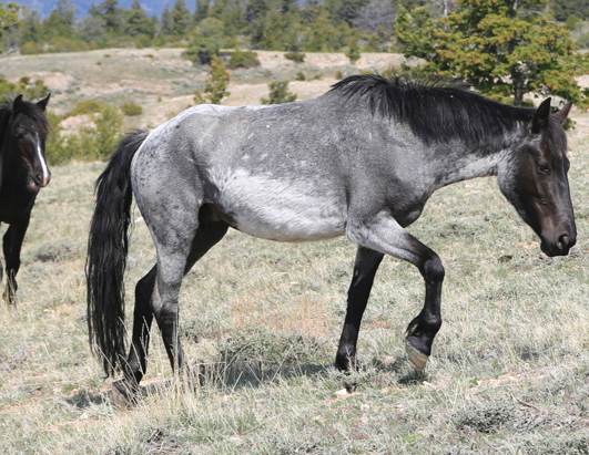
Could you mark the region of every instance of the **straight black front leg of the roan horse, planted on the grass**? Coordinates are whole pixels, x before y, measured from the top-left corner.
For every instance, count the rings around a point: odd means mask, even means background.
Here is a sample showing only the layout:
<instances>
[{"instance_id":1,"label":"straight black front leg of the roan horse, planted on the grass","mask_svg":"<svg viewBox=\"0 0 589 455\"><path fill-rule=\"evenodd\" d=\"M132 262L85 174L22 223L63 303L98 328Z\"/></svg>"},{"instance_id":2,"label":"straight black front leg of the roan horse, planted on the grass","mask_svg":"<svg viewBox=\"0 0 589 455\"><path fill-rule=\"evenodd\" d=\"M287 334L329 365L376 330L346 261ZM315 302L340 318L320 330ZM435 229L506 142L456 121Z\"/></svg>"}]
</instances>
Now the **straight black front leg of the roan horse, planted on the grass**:
<instances>
[{"instance_id":1,"label":"straight black front leg of the roan horse, planted on the grass","mask_svg":"<svg viewBox=\"0 0 589 455\"><path fill-rule=\"evenodd\" d=\"M339 338L339 347L335 358L335 366L343 371L349 371L356 366L356 343L374 276L383 260L383 254L358 247L354 276L347 291L347 311Z\"/></svg>"}]
</instances>

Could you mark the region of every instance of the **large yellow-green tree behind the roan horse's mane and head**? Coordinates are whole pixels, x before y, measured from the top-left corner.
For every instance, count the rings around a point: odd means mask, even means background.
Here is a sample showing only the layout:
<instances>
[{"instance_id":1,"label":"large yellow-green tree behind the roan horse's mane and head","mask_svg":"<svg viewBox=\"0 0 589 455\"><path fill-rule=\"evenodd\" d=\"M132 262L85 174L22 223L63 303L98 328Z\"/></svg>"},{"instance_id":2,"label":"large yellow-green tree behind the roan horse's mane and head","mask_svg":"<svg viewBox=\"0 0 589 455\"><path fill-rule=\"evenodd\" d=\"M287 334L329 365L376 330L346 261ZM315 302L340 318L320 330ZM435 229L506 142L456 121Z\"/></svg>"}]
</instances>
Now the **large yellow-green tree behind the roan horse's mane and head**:
<instances>
[{"instance_id":1,"label":"large yellow-green tree behind the roan horse's mane and head","mask_svg":"<svg viewBox=\"0 0 589 455\"><path fill-rule=\"evenodd\" d=\"M542 8L537 0L461 0L447 18L403 10L395 31L406 54L428 60L428 71L499 100L519 105L526 93L544 92L579 101L572 41L563 25L531 13Z\"/></svg>"}]
</instances>

